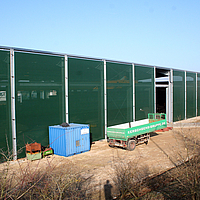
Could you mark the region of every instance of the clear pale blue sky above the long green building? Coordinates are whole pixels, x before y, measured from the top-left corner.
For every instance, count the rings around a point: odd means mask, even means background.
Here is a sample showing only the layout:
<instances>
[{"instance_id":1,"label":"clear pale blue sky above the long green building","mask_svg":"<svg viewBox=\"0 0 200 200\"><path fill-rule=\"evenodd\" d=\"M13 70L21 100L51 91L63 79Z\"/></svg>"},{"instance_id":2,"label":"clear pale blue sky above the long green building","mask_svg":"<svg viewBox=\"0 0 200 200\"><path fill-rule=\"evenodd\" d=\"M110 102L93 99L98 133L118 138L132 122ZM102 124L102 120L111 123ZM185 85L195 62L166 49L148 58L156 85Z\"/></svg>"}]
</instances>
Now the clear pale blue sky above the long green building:
<instances>
[{"instance_id":1,"label":"clear pale blue sky above the long green building","mask_svg":"<svg viewBox=\"0 0 200 200\"><path fill-rule=\"evenodd\" d=\"M0 0L0 46L200 72L200 0Z\"/></svg>"}]
</instances>

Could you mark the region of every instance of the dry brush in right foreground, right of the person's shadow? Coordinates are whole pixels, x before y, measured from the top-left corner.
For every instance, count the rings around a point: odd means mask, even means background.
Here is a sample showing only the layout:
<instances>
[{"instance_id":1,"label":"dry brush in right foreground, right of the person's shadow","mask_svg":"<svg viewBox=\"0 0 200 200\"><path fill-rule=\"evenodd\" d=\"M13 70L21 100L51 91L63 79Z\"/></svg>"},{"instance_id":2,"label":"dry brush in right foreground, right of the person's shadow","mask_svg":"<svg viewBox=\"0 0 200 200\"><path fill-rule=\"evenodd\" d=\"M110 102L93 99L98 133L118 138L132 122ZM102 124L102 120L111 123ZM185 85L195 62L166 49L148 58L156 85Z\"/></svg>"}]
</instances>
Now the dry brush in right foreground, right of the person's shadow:
<instances>
[{"instance_id":1,"label":"dry brush in right foreground, right of the person's shadow","mask_svg":"<svg viewBox=\"0 0 200 200\"><path fill-rule=\"evenodd\" d=\"M177 148L168 156L174 168L148 176L148 168L140 168L138 162L121 162L115 167L117 199L200 199L199 138L186 129L174 131L174 136Z\"/></svg>"}]
</instances>

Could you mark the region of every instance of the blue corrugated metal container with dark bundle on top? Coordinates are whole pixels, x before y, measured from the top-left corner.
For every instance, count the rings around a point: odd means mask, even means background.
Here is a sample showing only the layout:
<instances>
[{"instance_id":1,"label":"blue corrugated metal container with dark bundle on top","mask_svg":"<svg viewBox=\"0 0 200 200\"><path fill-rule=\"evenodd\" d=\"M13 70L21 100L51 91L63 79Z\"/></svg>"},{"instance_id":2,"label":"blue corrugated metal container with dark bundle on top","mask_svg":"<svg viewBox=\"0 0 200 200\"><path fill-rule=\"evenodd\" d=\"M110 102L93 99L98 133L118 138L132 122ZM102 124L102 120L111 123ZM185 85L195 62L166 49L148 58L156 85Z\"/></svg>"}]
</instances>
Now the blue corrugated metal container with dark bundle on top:
<instances>
[{"instance_id":1,"label":"blue corrugated metal container with dark bundle on top","mask_svg":"<svg viewBox=\"0 0 200 200\"><path fill-rule=\"evenodd\" d=\"M49 143L54 154L71 156L90 150L90 128L85 124L49 126Z\"/></svg>"}]
</instances>

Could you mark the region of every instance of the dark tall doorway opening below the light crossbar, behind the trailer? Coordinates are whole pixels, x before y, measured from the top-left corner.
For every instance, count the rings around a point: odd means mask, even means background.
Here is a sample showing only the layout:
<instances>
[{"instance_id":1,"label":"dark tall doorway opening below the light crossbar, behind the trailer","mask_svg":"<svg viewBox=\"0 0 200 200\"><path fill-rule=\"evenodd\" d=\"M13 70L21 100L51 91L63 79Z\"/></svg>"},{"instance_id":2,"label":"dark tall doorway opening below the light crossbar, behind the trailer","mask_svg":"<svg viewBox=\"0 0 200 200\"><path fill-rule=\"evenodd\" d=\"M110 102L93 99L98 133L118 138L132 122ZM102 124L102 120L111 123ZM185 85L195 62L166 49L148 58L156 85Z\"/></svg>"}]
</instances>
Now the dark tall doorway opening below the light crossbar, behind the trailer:
<instances>
[{"instance_id":1,"label":"dark tall doorway opening below the light crossbar, behind the trailer","mask_svg":"<svg viewBox=\"0 0 200 200\"><path fill-rule=\"evenodd\" d=\"M166 87L156 87L156 112L166 113Z\"/></svg>"}]
</instances>

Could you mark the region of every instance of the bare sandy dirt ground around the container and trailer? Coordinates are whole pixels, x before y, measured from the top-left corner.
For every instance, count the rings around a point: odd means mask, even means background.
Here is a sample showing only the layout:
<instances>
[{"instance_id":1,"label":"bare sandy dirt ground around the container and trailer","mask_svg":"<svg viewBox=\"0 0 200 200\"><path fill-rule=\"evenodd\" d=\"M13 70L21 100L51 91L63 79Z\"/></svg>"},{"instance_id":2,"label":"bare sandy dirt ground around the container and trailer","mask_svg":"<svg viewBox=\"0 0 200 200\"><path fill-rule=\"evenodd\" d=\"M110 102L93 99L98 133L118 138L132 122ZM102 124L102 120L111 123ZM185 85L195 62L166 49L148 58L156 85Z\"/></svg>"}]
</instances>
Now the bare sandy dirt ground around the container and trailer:
<instances>
[{"instance_id":1,"label":"bare sandy dirt ground around the container and trailer","mask_svg":"<svg viewBox=\"0 0 200 200\"><path fill-rule=\"evenodd\" d=\"M184 123L199 122L200 117L184 120ZM171 131L152 133L149 143L136 146L134 151L119 147L111 148L106 140L97 141L91 150L70 157L58 155L48 156L41 160L30 162L26 158L12 161L10 167L17 171L29 165L30 168L45 168L51 163L54 166L68 164L80 168L85 177L92 177L94 188L103 188L107 180L113 183L116 166L120 163L134 161L135 165L144 170L147 175L159 174L173 168L180 162L180 154L184 157L187 153L185 142L180 140L178 132L191 134L200 139L200 127L176 127ZM2 165L2 164L1 164ZM1 167L0 167L1 168ZM103 198L101 198L103 199Z\"/></svg>"}]
</instances>

